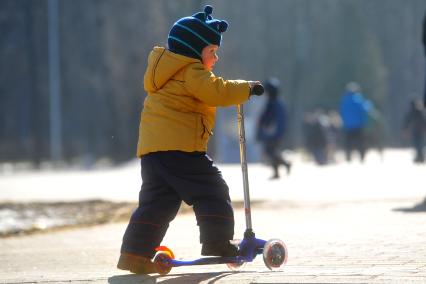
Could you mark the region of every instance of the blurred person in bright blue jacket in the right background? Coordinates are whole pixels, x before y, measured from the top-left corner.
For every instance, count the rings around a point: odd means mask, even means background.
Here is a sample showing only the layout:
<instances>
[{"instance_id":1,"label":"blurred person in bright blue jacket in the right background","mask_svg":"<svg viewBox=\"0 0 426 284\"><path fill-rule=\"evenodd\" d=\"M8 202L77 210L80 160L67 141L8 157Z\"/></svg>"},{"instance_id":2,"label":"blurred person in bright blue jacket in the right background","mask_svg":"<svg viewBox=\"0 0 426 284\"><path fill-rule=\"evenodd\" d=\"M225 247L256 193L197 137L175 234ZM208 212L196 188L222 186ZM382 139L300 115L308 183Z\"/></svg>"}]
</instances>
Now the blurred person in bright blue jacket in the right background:
<instances>
[{"instance_id":1,"label":"blurred person in bright blue jacket in the right background","mask_svg":"<svg viewBox=\"0 0 426 284\"><path fill-rule=\"evenodd\" d=\"M365 127L368 121L369 102L366 100L358 83L350 82L340 103L340 116L343 123L344 150L346 160L351 161L353 150L359 152L361 162L366 153Z\"/></svg>"}]
</instances>

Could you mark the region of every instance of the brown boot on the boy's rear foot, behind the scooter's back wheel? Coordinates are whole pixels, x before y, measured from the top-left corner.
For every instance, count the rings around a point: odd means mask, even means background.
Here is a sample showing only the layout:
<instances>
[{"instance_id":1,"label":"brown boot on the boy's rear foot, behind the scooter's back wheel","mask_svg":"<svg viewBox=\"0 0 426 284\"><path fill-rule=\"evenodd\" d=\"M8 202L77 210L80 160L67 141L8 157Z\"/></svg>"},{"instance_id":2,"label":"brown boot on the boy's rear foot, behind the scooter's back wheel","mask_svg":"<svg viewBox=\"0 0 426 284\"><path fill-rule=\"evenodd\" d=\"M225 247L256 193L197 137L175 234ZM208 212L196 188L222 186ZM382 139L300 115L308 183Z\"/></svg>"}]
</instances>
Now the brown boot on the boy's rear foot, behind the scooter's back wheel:
<instances>
[{"instance_id":1,"label":"brown boot on the boy's rear foot, behind the scooter's back wheel","mask_svg":"<svg viewBox=\"0 0 426 284\"><path fill-rule=\"evenodd\" d=\"M148 257L129 253L121 253L117 268L136 274L157 273L155 264Z\"/></svg>"}]
</instances>

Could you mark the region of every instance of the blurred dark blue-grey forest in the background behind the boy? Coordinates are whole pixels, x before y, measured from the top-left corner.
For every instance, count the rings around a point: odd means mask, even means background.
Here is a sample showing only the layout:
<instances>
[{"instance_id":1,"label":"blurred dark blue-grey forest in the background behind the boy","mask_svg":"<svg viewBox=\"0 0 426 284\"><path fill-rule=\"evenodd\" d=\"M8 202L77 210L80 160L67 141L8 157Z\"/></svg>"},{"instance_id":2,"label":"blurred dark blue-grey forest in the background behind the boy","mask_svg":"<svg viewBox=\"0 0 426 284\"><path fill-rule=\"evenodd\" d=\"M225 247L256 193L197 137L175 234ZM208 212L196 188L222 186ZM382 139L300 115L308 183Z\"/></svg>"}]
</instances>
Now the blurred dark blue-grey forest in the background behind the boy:
<instances>
[{"instance_id":1,"label":"blurred dark blue-grey forest in the background behind the boy","mask_svg":"<svg viewBox=\"0 0 426 284\"><path fill-rule=\"evenodd\" d=\"M215 74L281 80L289 147L302 146L304 113L336 109L350 81L382 112L385 145L403 144L408 102L423 89L425 0L2 0L0 162L133 158L147 55L205 4L230 23ZM218 115L210 150L219 161L228 121L234 108Z\"/></svg>"}]
</instances>

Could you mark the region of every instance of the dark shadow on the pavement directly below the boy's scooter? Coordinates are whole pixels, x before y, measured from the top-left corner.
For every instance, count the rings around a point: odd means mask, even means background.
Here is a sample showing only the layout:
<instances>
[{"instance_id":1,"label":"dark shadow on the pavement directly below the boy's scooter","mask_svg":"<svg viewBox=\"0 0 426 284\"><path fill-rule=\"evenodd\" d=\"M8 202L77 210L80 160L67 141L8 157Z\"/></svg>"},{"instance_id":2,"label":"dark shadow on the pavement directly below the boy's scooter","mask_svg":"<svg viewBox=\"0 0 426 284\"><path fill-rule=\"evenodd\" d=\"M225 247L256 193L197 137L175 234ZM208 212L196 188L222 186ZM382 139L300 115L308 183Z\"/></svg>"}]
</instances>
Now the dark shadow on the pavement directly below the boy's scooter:
<instances>
[{"instance_id":1,"label":"dark shadow on the pavement directly below the boy's scooter","mask_svg":"<svg viewBox=\"0 0 426 284\"><path fill-rule=\"evenodd\" d=\"M169 278L161 281L161 283L200 283L209 280L207 283L213 284L219 279L238 272L211 272L211 273L185 273L185 274L168 274L165 276L149 276L149 275L117 275L108 278L110 284L150 284L157 283L157 279Z\"/></svg>"}]
</instances>

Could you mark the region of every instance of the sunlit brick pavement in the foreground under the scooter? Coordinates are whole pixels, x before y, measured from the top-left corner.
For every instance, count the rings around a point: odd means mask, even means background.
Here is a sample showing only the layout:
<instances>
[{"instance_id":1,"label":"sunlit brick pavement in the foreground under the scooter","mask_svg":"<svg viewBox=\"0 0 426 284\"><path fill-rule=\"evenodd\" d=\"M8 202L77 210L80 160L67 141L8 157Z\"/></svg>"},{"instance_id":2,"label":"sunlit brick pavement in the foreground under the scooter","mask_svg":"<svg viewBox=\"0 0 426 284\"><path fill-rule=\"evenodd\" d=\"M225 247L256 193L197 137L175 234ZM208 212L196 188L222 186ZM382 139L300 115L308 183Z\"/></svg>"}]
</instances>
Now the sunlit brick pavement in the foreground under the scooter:
<instances>
[{"instance_id":1,"label":"sunlit brick pavement in the foreground under the scooter","mask_svg":"<svg viewBox=\"0 0 426 284\"><path fill-rule=\"evenodd\" d=\"M269 271L261 257L240 272L224 265L174 268L167 276L114 268L124 223L0 240L0 283L426 283L426 208L421 199L269 202L253 208L259 238L280 238L289 260ZM408 212L407 212L408 211ZM244 231L236 211L236 237ZM191 214L164 243L178 258L198 256Z\"/></svg>"}]
</instances>

